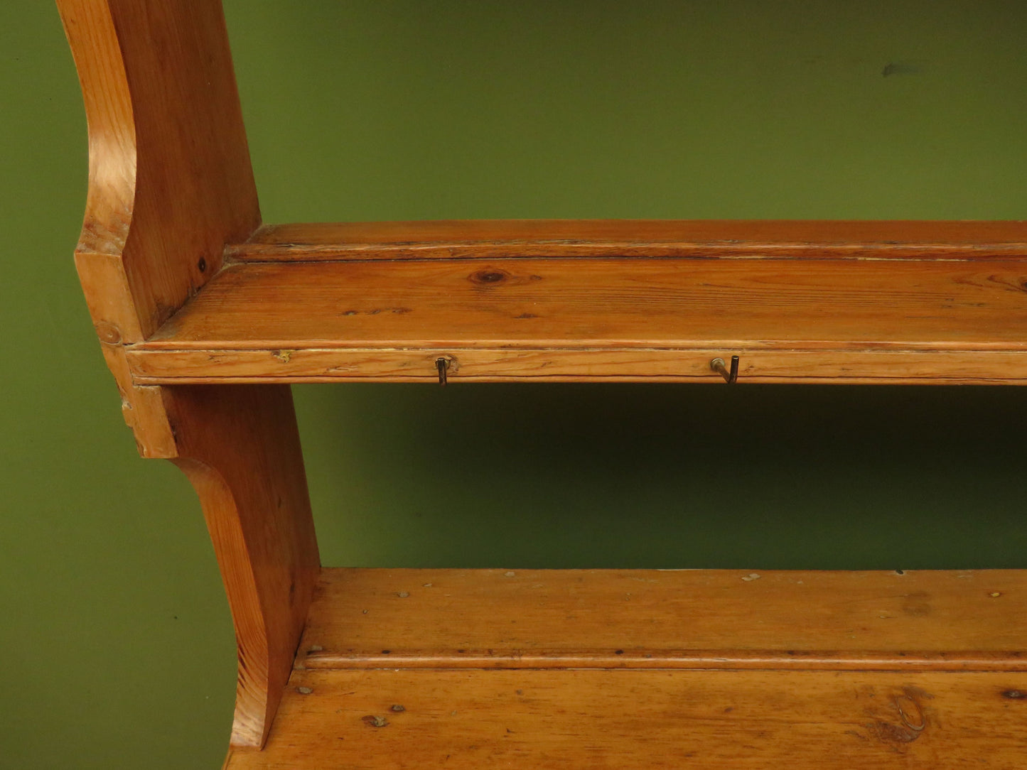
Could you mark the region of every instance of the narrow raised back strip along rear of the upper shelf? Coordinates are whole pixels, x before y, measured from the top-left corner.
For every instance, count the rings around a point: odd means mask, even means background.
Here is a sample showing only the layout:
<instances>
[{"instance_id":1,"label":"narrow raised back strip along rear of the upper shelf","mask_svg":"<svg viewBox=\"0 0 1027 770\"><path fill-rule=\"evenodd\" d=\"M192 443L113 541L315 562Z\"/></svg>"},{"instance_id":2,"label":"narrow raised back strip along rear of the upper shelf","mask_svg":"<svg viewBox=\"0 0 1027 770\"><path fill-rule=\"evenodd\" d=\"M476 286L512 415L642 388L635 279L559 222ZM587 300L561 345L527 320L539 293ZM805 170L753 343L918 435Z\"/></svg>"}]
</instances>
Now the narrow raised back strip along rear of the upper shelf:
<instances>
[{"instance_id":1,"label":"narrow raised back strip along rear of the upper shelf","mask_svg":"<svg viewBox=\"0 0 1027 770\"><path fill-rule=\"evenodd\" d=\"M464 220L267 225L242 261L511 257L1024 259L1027 222Z\"/></svg>"}]
</instances>

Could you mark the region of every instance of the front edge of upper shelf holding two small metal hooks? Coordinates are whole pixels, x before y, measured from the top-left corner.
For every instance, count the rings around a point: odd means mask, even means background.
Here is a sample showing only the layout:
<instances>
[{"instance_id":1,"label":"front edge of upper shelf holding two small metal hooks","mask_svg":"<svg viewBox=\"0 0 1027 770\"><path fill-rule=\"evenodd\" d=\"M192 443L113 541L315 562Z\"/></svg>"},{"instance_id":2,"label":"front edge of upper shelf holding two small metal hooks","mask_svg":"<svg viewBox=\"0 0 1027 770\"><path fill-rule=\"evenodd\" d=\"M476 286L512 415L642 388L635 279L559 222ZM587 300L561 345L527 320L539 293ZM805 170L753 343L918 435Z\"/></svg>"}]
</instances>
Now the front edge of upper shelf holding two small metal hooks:
<instances>
[{"instance_id":1,"label":"front edge of upper shelf holding two small metal hooks","mask_svg":"<svg viewBox=\"0 0 1027 770\"><path fill-rule=\"evenodd\" d=\"M853 346L854 347L854 346ZM215 383L435 382L449 361L459 382L720 383L715 357L739 355L738 383L1022 384L1027 350L711 348L269 347L127 348L138 385Z\"/></svg>"}]
</instances>

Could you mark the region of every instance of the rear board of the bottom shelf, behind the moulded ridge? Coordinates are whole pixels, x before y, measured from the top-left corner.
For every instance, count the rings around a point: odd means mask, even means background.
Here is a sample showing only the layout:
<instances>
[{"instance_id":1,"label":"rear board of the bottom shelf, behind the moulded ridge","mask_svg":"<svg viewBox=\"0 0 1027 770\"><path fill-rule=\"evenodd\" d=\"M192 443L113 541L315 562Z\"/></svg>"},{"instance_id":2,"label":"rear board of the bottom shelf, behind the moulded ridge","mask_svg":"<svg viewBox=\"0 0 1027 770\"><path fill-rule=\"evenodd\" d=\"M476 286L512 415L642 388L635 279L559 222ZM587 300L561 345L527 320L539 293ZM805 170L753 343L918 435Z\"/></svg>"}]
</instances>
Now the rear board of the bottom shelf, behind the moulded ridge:
<instances>
[{"instance_id":1,"label":"rear board of the bottom shelf, behind the moulded ridge","mask_svg":"<svg viewBox=\"0 0 1027 770\"><path fill-rule=\"evenodd\" d=\"M326 569L297 666L1025 668L1018 570Z\"/></svg>"}]
</instances>

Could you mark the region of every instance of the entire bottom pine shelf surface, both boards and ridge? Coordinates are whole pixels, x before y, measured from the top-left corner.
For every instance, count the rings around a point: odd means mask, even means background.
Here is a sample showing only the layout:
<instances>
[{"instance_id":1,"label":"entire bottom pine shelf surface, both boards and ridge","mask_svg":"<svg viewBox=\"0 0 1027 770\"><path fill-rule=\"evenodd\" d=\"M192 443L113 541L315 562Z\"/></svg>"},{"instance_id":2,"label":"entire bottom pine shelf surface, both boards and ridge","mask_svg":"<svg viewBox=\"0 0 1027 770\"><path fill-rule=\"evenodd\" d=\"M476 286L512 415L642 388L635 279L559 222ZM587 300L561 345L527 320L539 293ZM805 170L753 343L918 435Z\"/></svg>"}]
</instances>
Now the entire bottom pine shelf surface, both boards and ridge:
<instances>
[{"instance_id":1,"label":"entire bottom pine shelf surface, both boards and ridge","mask_svg":"<svg viewBox=\"0 0 1027 770\"><path fill-rule=\"evenodd\" d=\"M1022 767L1019 571L325 570L278 768Z\"/></svg>"}]
</instances>

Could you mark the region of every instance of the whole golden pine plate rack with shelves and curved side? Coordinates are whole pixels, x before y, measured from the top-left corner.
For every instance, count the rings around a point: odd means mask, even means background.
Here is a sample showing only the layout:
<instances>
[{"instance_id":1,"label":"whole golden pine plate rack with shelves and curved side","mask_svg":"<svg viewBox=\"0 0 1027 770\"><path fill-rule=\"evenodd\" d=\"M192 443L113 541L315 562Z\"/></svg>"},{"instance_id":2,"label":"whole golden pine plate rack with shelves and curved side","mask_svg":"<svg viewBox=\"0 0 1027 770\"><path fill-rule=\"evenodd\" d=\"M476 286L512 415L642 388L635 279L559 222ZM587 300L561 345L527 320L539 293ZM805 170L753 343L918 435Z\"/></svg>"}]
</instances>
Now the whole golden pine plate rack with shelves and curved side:
<instances>
[{"instance_id":1,"label":"whole golden pine plate rack with shelves and curved side","mask_svg":"<svg viewBox=\"0 0 1027 770\"><path fill-rule=\"evenodd\" d=\"M82 287L235 623L225 767L1024 766L1023 572L321 568L289 385L1027 384L1027 223L264 225L218 0L58 5Z\"/></svg>"}]
</instances>

